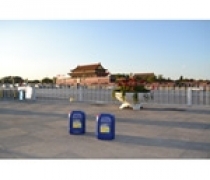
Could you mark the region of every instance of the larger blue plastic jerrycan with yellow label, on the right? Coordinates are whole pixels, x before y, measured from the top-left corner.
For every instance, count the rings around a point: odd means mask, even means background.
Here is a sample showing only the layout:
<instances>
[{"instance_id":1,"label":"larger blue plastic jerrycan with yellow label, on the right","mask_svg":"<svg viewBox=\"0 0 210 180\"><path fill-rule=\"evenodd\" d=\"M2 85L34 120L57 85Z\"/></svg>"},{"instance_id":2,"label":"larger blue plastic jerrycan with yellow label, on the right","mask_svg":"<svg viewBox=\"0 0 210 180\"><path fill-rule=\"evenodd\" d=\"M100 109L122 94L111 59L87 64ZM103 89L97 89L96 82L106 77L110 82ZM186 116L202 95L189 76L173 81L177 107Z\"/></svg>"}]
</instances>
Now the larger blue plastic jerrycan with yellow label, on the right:
<instances>
[{"instance_id":1,"label":"larger blue plastic jerrycan with yellow label, on the right","mask_svg":"<svg viewBox=\"0 0 210 180\"><path fill-rule=\"evenodd\" d=\"M96 117L96 137L101 140L115 138L115 116L112 114L100 114Z\"/></svg>"}]
</instances>

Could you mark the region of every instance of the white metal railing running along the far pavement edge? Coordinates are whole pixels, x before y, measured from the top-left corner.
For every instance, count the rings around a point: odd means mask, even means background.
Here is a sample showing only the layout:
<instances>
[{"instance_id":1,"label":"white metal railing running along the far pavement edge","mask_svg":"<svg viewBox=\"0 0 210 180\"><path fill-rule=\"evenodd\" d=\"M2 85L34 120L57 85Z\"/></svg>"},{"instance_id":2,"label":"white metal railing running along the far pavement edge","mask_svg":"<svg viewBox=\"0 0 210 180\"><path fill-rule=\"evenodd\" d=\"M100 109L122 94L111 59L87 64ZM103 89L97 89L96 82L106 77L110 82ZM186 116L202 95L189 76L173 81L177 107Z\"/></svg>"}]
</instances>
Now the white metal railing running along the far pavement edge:
<instances>
[{"instance_id":1,"label":"white metal railing running along the far pavement edge","mask_svg":"<svg viewBox=\"0 0 210 180\"><path fill-rule=\"evenodd\" d=\"M119 103L112 97L112 89L107 87L35 88L35 92L37 101ZM152 93L154 99L149 103L210 106L210 87L161 87ZM14 90L1 88L0 100L18 99L13 94Z\"/></svg>"}]
</instances>

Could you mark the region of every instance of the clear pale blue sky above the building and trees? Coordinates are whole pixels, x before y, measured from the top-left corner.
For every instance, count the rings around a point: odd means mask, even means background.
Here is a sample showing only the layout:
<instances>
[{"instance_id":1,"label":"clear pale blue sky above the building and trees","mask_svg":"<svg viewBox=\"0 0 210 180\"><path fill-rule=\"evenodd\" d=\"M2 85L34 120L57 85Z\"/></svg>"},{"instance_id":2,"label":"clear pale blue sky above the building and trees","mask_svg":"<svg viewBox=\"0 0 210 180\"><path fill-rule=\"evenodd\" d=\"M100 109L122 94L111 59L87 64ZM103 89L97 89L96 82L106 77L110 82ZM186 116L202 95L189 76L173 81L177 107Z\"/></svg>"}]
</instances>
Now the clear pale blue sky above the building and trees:
<instances>
[{"instance_id":1,"label":"clear pale blue sky above the building and trees","mask_svg":"<svg viewBox=\"0 0 210 180\"><path fill-rule=\"evenodd\" d=\"M111 73L210 79L208 20L0 21L0 78L42 79L101 62Z\"/></svg>"}]
</instances>

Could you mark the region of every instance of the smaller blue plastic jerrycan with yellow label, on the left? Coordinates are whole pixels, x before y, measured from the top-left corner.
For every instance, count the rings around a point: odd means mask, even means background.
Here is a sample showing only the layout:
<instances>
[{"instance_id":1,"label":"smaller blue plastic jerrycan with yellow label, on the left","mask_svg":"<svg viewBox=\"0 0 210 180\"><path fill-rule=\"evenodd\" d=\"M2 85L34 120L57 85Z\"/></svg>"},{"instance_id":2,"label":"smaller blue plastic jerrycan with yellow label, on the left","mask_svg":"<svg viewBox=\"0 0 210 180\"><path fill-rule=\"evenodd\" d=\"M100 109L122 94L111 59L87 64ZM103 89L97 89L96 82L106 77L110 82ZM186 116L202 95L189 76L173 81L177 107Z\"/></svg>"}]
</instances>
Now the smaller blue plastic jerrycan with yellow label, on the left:
<instances>
[{"instance_id":1,"label":"smaller blue plastic jerrycan with yellow label, on the left","mask_svg":"<svg viewBox=\"0 0 210 180\"><path fill-rule=\"evenodd\" d=\"M72 111L69 114L69 133L85 134L86 131L86 115L83 111Z\"/></svg>"}]
</instances>

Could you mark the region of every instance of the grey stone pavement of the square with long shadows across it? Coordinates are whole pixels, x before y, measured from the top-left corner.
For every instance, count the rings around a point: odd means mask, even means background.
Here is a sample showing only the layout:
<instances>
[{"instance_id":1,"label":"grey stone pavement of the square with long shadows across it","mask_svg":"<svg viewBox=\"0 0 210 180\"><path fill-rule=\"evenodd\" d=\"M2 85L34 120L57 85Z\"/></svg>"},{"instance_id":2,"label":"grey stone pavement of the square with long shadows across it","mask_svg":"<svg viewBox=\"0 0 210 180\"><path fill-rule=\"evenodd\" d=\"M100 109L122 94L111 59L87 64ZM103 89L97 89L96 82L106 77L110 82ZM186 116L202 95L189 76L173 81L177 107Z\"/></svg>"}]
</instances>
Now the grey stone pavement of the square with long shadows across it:
<instances>
[{"instance_id":1,"label":"grey stone pavement of the square with long shadows across it","mask_svg":"<svg viewBox=\"0 0 210 180\"><path fill-rule=\"evenodd\" d=\"M0 159L210 158L210 108L147 104L0 101ZM68 133L68 113L86 112L86 134ZM95 118L116 117L116 138L98 140Z\"/></svg>"}]
</instances>

